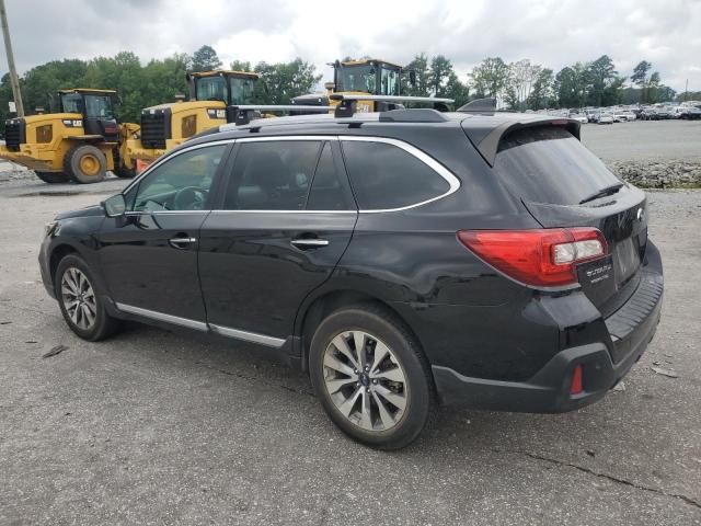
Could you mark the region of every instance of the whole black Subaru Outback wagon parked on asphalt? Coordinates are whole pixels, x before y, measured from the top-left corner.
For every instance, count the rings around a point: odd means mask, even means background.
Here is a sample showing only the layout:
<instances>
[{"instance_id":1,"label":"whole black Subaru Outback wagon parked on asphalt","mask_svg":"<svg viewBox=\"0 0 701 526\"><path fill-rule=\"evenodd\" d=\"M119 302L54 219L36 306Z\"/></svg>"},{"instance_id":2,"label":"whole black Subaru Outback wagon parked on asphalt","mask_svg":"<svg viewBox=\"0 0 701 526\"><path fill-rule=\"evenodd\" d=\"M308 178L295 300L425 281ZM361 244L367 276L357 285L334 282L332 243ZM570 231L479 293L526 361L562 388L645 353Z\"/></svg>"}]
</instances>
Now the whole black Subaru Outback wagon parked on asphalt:
<instances>
[{"instance_id":1,"label":"whole black Subaru Outback wagon parked on asphalt","mask_svg":"<svg viewBox=\"0 0 701 526\"><path fill-rule=\"evenodd\" d=\"M578 135L434 110L225 126L47 225L43 278L85 340L133 319L277 350L375 447L436 403L574 410L641 357L663 295L644 193Z\"/></svg>"}]
</instances>

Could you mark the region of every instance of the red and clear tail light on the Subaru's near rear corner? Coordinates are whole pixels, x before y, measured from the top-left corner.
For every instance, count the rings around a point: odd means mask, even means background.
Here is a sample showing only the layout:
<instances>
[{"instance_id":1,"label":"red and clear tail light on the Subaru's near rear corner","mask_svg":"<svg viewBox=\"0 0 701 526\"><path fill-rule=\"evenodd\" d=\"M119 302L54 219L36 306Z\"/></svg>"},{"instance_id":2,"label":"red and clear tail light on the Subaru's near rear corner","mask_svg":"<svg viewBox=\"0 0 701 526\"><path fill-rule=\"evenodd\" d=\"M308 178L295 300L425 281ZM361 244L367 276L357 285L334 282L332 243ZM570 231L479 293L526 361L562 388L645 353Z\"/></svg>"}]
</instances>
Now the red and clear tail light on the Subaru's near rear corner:
<instances>
[{"instance_id":1,"label":"red and clear tail light on the Subaru's near rear corner","mask_svg":"<svg viewBox=\"0 0 701 526\"><path fill-rule=\"evenodd\" d=\"M596 228L461 230L458 239L507 276L541 287L577 283L577 264L608 253Z\"/></svg>"}]
</instances>

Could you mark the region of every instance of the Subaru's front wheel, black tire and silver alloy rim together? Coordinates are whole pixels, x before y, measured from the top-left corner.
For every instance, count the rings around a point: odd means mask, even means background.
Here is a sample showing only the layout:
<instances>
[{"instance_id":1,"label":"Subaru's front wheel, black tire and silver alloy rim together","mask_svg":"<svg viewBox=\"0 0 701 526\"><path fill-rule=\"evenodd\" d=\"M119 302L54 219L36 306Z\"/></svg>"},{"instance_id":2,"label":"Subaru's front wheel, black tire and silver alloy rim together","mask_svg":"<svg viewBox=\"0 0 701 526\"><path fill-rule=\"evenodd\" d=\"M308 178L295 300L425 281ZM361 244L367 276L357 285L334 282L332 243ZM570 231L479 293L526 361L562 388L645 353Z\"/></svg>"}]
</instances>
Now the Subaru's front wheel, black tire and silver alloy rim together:
<instances>
[{"instance_id":1,"label":"Subaru's front wheel, black tire and silver alloy rim together","mask_svg":"<svg viewBox=\"0 0 701 526\"><path fill-rule=\"evenodd\" d=\"M83 340L103 340L119 329L119 320L105 310L103 295L78 255L69 254L59 262L54 286L66 323Z\"/></svg>"}]
</instances>

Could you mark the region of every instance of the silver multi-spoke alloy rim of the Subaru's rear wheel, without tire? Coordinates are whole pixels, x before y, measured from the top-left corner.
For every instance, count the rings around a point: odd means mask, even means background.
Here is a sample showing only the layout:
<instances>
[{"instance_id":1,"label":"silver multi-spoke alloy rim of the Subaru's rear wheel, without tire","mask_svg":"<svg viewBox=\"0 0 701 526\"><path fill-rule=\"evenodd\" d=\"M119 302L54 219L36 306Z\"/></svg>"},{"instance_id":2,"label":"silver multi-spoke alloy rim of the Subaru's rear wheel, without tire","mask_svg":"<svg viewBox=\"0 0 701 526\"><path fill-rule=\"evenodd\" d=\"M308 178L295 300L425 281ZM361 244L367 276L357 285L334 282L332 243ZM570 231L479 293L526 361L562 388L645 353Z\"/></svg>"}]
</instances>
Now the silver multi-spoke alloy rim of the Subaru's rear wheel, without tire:
<instances>
[{"instance_id":1,"label":"silver multi-spoke alloy rim of the Subaru's rear wheel, without tire","mask_svg":"<svg viewBox=\"0 0 701 526\"><path fill-rule=\"evenodd\" d=\"M392 350L370 333L334 336L324 352L324 386L336 409L366 431L388 431L402 420L409 382Z\"/></svg>"}]
</instances>

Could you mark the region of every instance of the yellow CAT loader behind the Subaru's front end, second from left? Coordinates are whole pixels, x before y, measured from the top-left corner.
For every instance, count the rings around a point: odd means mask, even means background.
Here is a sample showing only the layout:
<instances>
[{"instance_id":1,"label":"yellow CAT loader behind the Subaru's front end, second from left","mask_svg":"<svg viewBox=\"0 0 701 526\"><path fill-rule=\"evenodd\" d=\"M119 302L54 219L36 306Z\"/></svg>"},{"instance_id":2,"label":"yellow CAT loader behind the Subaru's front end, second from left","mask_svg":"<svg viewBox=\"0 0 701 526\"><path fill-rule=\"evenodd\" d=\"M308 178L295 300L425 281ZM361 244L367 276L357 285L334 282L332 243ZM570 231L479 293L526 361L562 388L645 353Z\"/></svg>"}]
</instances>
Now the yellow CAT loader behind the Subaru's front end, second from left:
<instances>
[{"instance_id":1,"label":"yellow CAT loader behind the Subaru's front end, second from left","mask_svg":"<svg viewBox=\"0 0 701 526\"><path fill-rule=\"evenodd\" d=\"M127 141L128 155L143 167L193 135L226 124L228 106L253 101L258 78L248 71L188 73L189 100L141 110L141 129Z\"/></svg>"}]
</instances>

